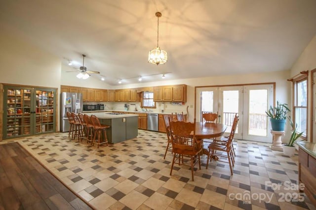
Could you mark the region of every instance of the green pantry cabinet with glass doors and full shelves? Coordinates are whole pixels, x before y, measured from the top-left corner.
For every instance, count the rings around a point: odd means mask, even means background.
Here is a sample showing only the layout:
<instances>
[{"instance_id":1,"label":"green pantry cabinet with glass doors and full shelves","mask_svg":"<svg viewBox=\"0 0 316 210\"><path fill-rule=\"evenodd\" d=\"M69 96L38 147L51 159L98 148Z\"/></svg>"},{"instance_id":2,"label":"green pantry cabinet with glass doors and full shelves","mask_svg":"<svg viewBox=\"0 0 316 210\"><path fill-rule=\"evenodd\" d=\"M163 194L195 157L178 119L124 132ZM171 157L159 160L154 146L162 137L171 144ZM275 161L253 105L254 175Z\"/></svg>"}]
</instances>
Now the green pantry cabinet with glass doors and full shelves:
<instances>
[{"instance_id":1,"label":"green pantry cabinet with glass doors and full shelves","mask_svg":"<svg viewBox=\"0 0 316 210\"><path fill-rule=\"evenodd\" d=\"M56 89L3 86L3 139L56 131Z\"/></svg>"}]
</instances>

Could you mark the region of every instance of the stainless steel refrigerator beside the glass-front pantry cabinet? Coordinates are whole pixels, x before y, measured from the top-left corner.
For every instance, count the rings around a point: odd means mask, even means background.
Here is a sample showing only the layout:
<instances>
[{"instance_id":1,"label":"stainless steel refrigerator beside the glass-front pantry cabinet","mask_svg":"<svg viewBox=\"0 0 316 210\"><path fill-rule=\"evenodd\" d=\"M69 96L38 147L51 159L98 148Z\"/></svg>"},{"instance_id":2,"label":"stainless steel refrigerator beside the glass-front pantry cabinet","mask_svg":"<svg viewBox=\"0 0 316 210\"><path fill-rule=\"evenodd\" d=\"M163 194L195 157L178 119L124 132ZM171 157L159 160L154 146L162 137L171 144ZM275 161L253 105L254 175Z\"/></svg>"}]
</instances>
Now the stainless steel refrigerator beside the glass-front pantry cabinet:
<instances>
[{"instance_id":1,"label":"stainless steel refrigerator beside the glass-front pantry cabinet","mask_svg":"<svg viewBox=\"0 0 316 210\"><path fill-rule=\"evenodd\" d=\"M66 113L74 112L78 114L82 112L82 94L76 92L62 92L60 98L60 132L68 132L70 124Z\"/></svg>"}]
</instances>

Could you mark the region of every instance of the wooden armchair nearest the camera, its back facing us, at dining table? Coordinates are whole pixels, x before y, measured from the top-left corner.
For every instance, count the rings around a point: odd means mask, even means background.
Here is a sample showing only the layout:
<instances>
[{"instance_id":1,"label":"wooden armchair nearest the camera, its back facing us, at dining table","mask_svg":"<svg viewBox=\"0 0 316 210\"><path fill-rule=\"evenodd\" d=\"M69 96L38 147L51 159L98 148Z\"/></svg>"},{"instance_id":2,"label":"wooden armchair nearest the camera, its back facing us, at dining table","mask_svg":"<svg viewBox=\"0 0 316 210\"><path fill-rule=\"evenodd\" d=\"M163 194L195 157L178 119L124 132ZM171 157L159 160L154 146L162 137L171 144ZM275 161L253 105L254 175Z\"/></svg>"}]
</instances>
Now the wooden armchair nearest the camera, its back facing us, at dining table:
<instances>
[{"instance_id":1,"label":"wooden armchair nearest the camera, its back facing us, at dining table","mask_svg":"<svg viewBox=\"0 0 316 210\"><path fill-rule=\"evenodd\" d=\"M169 119L172 141L173 160L170 170L172 174L173 165L178 161L179 165L191 167L192 181L194 181L194 166L198 163L201 169L200 151L202 141L196 139L196 119L194 122L172 121ZM189 143L189 144L188 144ZM190 165L185 164L184 157L190 158ZM182 161L180 161L182 159Z\"/></svg>"}]
</instances>

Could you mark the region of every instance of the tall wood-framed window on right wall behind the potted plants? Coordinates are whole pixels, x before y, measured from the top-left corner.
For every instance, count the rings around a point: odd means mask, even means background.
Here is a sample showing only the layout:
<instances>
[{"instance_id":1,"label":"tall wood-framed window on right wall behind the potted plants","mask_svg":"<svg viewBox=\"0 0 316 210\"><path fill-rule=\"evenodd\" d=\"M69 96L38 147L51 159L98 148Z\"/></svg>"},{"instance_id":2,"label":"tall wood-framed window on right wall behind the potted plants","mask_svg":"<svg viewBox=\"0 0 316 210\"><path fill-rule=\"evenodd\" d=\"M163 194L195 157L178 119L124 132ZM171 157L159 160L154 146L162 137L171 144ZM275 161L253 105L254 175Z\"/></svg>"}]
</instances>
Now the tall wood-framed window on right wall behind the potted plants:
<instances>
[{"instance_id":1,"label":"tall wood-framed window on right wall behind the potted plants","mask_svg":"<svg viewBox=\"0 0 316 210\"><path fill-rule=\"evenodd\" d=\"M293 98L293 118L294 124L297 124L297 132L304 132L307 135L307 77L299 80L293 80L294 98Z\"/></svg>"}]
</instances>

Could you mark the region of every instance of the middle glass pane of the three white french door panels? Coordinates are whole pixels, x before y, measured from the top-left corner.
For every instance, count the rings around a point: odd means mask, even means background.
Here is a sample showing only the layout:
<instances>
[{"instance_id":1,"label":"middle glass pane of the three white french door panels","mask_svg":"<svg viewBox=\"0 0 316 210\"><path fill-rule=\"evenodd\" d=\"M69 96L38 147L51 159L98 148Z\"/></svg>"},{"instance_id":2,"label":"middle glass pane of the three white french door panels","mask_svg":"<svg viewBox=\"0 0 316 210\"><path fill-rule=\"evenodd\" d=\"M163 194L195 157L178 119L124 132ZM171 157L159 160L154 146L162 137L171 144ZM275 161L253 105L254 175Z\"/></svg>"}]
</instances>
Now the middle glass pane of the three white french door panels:
<instances>
[{"instance_id":1,"label":"middle glass pane of the three white french door panels","mask_svg":"<svg viewBox=\"0 0 316 210\"><path fill-rule=\"evenodd\" d=\"M239 91L238 90L224 90L223 91L223 120L222 123L227 125L225 132L230 133L234 117L239 110ZM237 125L238 127L238 125ZM238 128L236 129L238 133Z\"/></svg>"}]
</instances>

